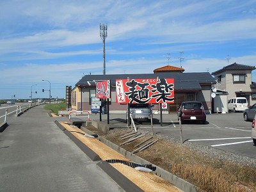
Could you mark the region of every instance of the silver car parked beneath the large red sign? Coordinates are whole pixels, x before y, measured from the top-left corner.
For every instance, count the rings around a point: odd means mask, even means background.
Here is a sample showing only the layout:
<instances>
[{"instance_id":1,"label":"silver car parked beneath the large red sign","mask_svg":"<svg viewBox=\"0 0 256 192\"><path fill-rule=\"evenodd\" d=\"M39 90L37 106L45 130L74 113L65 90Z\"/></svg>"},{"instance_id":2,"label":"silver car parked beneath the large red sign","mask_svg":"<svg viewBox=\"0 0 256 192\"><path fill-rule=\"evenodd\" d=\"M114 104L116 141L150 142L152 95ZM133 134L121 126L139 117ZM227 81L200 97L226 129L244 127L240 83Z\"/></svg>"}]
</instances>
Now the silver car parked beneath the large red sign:
<instances>
[{"instance_id":1,"label":"silver car parked beneath the large red sign","mask_svg":"<svg viewBox=\"0 0 256 192\"><path fill-rule=\"evenodd\" d=\"M151 104L129 104L130 114L133 120L150 120L152 115ZM128 119L128 109L126 113L126 118Z\"/></svg>"}]
</instances>

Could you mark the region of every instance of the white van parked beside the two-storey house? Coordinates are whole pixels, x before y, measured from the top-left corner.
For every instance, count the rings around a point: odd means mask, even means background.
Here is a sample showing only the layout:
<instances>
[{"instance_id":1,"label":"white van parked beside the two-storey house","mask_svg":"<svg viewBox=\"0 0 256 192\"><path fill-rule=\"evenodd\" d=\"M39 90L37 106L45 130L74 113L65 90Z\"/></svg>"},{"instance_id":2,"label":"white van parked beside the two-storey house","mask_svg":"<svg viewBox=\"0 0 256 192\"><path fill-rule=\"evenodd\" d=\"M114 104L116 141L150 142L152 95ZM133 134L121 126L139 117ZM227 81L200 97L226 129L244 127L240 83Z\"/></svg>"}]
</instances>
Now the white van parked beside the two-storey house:
<instances>
[{"instance_id":1,"label":"white van parked beside the two-storey house","mask_svg":"<svg viewBox=\"0 0 256 192\"><path fill-rule=\"evenodd\" d=\"M244 111L248 108L248 102L245 97L234 97L228 100L228 111Z\"/></svg>"}]
</instances>

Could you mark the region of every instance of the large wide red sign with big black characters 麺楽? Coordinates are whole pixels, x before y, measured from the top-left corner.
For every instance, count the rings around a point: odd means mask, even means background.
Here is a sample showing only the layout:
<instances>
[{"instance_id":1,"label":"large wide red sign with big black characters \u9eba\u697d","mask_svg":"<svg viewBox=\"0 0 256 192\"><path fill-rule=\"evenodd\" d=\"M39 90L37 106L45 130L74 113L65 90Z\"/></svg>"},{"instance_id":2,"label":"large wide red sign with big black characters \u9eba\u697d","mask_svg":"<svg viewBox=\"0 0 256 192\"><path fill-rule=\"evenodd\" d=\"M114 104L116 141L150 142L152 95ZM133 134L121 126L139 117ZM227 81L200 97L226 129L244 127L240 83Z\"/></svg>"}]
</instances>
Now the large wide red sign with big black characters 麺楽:
<instances>
[{"instance_id":1,"label":"large wide red sign with big black characters \u9eba\u697d","mask_svg":"<svg viewBox=\"0 0 256 192\"><path fill-rule=\"evenodd\" d=\"M116 102L174 103L174 79L116 79Z\"/></svg>"}]
</instances>

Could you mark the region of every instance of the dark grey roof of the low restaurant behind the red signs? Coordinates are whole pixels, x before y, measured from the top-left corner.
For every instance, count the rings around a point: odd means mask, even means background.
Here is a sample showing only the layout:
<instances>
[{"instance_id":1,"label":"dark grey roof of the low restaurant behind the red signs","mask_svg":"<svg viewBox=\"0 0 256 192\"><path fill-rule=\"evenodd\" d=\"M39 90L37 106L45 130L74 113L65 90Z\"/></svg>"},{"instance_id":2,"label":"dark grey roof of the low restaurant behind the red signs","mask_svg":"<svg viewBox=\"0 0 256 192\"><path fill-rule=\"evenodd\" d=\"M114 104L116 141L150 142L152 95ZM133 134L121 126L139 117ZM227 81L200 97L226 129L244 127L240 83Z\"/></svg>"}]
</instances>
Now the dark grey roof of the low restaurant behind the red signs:
<instances>
[{"instance_id":1,"label":"dark grey roof of the low restaurant behind the red signs","mask_svg":"<svg viewBox=\"0 0 256 192\"><path fill-rule=\"evenodd\" d=\"M95 86L95 82L110 80L115 86L116 79L147 79L147 78L173 78L175 91L202 90L202 84L216 84L209 72L194 73L160 73L160 74L112 74L112 75L86 75L80 79L76 86Z\"/></svg>"}]
</instances>

